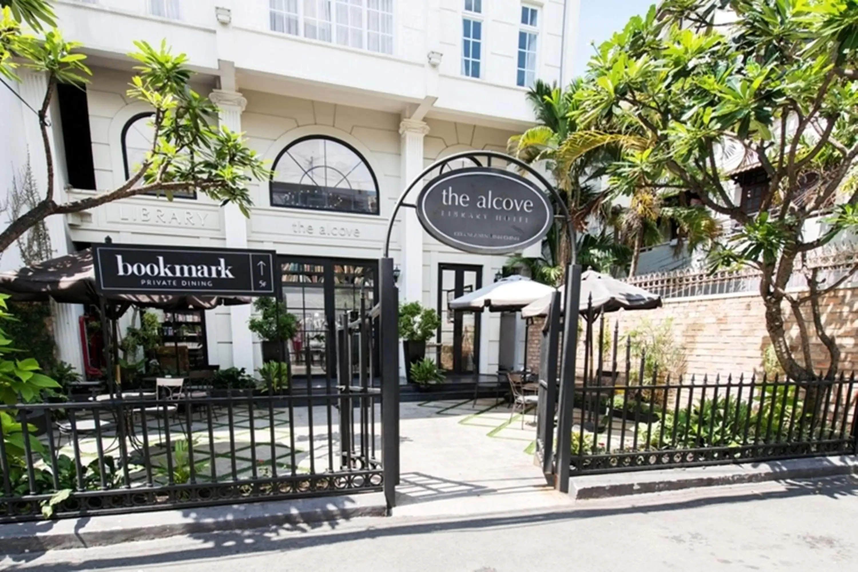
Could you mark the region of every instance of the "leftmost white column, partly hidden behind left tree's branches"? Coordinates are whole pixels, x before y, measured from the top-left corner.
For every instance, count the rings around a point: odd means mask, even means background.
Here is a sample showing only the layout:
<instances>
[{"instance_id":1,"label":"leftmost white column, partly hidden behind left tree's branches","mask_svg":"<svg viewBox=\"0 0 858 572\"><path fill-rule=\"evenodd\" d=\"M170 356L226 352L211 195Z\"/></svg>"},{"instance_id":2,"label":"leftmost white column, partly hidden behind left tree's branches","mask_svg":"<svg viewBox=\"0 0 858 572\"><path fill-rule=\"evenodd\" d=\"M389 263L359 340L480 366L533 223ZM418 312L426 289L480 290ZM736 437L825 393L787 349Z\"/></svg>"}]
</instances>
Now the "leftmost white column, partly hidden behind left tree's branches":
<instances>
[{"instance_id":1,"label":"leftmost white column, partly hidden behind left tree's branches","mask_svg":"<svg viewBox=\"0 0 858 572\"><path fill-rule=\"evenodd\" d=\"M21 97L33 107L39 109L42 106L42 101L45 99L45 91L47 90L47 78L45 74L29 69L21 69ZM57 93L54 92L53 98L57 98ZM42 133L39 128L39 117L30 110L24 110L24 136L27 141L27 154L30 160L30 167L33 171L39 193L45 193L48 184L48 175L46 170L46 154L45 143L42 141ZM49 111L49 119L51 113ZM53 117L58 121L58 117ZM54 200L63 202L65 199L64 190L64 166L57 161L57 132L54 131L53 125L47 127L48 141L51 143L51 156L53 159L54 170ZM44 195L43 195L44 196ZM51 256L64 256L69 254L69 237L66 232L65 216L55 214L45 219L48 236L51 238ZM15 246L11 248L16 248ZM55 304L51 302L51 315L53 316L53 334L54 340L57 342L57 356L64 362L71 364L80 372L83 371L83 354L81 348L81 338L79 332L78 317L83 313L83 306L79 304ZM26 348L21 348L26 350ZM35 356L39 358L39 356Z\"/></svg>"}]
</instances>

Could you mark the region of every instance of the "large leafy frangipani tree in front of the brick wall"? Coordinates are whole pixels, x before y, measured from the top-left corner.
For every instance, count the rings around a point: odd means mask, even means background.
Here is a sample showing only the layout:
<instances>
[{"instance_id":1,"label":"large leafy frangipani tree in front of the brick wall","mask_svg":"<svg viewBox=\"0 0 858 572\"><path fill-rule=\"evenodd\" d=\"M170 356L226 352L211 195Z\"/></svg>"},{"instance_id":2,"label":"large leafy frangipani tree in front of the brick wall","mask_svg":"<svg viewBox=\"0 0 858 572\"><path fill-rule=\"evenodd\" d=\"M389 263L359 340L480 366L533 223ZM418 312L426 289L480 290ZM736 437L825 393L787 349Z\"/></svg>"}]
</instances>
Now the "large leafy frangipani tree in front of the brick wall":
<instances>
[{"instance_id":1,"label":"large leafy frangipani tree in front of the brick wall","mask_svg":"<svg viewBox=\"0 0 858 572\"><path fill-rule=\"evenodd\" d=\"M855 0L665 0L600 46L577 93L583 128L621 118L650 141L645 155L628 151L615 164L618 182L692 193L738 229L711 251L713 264L758 268L766 328L798 380L813 376L811 328L828 352L827 375L837 371L820 300L858 269L825 283L805 264L858 224L856 49ZM729 145L767 175L758 212L734 199L722 161ZM808 221L825 214L825 232L806 238ZM787 290L796 272L806 292Z\"/></svg>"}]
</instances>

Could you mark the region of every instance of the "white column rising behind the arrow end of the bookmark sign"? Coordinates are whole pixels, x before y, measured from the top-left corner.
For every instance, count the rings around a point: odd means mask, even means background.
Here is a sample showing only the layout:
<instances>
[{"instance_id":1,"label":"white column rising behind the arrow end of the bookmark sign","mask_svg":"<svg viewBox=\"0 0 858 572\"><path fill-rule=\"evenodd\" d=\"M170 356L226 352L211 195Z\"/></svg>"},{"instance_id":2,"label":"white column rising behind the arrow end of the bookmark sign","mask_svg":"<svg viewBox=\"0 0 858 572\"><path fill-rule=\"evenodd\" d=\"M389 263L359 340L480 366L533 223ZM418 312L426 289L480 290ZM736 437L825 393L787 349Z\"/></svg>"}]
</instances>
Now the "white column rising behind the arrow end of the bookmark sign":
<instances>
[{"instance_id":1,"label":"white column rising behind the arrow end of the bookmark sign","mask_svg":"<svg viewBox=\"0 0 858 572\"><path fill-rule=\"evenodd\" d=\"M241 93L215 89L208 99L218 106L221 125L231 131L241 130L241 112L245 111L247 99ZM223 208L224 231L228 248L247 248L247 219L238 207L228 204ZM212 313L214 314L214 313ZM253 337L247 329L251 318L250 304L233 306L229 309L230 326L233 338L233 366L243 367L253 373ZM214 318L214 316L212 316ZM213 350L209 350L210 352Z\"/></svg>"}]
</instances>

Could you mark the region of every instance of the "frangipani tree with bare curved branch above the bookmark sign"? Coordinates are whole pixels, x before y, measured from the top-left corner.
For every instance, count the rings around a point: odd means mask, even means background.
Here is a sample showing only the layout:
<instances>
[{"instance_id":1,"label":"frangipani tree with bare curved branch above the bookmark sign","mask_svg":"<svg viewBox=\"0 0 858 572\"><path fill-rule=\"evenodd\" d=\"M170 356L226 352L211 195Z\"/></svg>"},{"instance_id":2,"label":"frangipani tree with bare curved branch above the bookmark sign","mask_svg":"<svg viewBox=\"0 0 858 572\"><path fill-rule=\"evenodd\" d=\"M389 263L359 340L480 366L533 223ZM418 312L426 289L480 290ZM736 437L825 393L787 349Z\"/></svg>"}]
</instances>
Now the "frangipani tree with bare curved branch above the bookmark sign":
<instances>
[{"instance_id":1,"label":"frangipani tree with bare curved branch above the bookmark sign","mask_svg":"<svg viewBox=\"0 0 858 572\"><path fill-rule=\"evenodd\" d=\"M91 72L84 63L86 55L78 51L80 44L63 39L52 27L52 17L50 6L42 0L3 0L0 75L17 81L17 71L23 67L42 72L47 79L45 96L36 110L38 119L34 119L41 129L47 180L42 199L0 232L0 252L53 214L77 213L153 192L171 200L180 191L202 192L221 204L232 202L246 216L251 206L247 184L253 178L267 178L269 172L240 134L218 126L215 105L190 89L187 57L172 54L166 42L153 47L138 41L134 43L137 51L129 54L137 65L128 95L146 102L153 111L153 143L142 164L133 166L128 180L115 189L57 202L48 110L58 83L80 85ZM21 20L36 34L25 33ZM43 24L50 29L44 31Z\"/></svg>"}]
</instances>

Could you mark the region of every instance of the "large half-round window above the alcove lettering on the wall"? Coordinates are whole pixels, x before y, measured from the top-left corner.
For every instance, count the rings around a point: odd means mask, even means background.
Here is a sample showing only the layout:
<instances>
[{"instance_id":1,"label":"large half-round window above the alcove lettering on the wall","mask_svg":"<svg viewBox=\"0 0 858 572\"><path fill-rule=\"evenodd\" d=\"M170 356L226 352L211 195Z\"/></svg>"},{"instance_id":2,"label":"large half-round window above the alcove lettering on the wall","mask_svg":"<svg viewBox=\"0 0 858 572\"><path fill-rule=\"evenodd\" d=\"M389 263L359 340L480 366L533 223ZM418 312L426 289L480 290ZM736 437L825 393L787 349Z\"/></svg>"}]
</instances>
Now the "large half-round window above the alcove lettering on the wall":
<instances>
[{"instance_id":1,"label":"large half-round window above the alcove lettering on the wall","mask_svg":"<svg viewBox=\"0 0 858 572\"><path fill-rule=\"evenodd\" d=\"M378 214L378 180L357 149L311 135L277 156L271 206Z\"/></svg>"}]
</instances>

